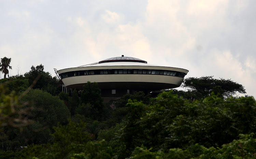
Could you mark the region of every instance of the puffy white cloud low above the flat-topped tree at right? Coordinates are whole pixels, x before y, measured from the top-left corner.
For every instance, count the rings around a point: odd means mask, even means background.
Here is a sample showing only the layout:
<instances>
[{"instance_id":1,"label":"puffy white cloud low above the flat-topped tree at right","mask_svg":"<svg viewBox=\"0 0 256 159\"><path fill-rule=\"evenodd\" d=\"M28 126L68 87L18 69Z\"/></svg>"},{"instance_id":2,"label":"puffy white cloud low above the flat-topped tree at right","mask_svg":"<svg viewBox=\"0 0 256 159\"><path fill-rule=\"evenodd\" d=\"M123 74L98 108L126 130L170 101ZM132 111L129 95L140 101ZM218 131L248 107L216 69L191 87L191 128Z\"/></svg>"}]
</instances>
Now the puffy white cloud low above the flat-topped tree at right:
<instances>
[{"instance_id":1,"label":"puffy white cloud low above the flat-topped tree at right","mask_svg":"<svg viewBox=\"0 0 256 159\"><path fill-rule=\"evenodd\" d=\"M196 69L198 72L204 72L206 75L214 75L215 78L231 78L234 82L245 86L248 95L254 94L255 90L252 86L256 80L253 77L251 69L243 69L243 63L229 51L221 52L212 50L209 56L200 61L201 65Z\"/></svg>"}]
</instances>

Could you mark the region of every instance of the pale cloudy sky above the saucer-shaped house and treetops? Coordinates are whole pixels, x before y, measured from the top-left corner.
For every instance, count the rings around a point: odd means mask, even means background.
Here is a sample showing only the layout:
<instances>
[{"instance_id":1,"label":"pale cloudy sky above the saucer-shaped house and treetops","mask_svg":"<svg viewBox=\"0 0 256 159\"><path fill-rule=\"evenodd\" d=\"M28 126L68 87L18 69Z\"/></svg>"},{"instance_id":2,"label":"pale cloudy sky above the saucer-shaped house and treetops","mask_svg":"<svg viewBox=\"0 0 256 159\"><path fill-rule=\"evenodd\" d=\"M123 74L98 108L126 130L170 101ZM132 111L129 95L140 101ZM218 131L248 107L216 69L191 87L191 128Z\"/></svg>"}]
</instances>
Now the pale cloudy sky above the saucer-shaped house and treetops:
<instances>
[{"instance_id":1,"label":"pale cloudy sky above the saucer-shaped house and treetops","mask_svg":"<svg viewBox=\"0 0 256 159\"><path fill-rule=\"evenodd\" d=\"M0 0L10 76L125 55L213 75L256 97L255 0ZM0 74L3 78L3 74Z\"/></svg>"}]
</instances>

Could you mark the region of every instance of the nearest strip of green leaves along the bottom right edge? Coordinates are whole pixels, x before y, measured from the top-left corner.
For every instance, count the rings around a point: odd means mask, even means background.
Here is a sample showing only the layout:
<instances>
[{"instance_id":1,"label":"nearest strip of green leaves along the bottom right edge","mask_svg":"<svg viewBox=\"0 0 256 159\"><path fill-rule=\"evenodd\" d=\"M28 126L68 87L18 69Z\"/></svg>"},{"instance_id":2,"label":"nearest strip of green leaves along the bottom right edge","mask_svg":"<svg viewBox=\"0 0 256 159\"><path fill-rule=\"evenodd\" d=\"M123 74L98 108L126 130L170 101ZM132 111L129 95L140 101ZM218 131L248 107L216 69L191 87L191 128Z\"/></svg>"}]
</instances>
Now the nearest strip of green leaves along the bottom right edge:
<instances>
[{"instance_id":1,"label":"nearest strip of green leaves along the bottom right edge","mask_svg":"<svg viewBox=\"0 0 256 159\"><path fill-rule=\"evenodd\" d=\"M168 158L168 159L253 159L256 158L255 134L240 134L239 140L233 140L221 148L206 148L199 144L190 145L186 149L171 148L168 152L152 151L144 146L136 147L129 159Z\"/></svg>"}]
</instances>

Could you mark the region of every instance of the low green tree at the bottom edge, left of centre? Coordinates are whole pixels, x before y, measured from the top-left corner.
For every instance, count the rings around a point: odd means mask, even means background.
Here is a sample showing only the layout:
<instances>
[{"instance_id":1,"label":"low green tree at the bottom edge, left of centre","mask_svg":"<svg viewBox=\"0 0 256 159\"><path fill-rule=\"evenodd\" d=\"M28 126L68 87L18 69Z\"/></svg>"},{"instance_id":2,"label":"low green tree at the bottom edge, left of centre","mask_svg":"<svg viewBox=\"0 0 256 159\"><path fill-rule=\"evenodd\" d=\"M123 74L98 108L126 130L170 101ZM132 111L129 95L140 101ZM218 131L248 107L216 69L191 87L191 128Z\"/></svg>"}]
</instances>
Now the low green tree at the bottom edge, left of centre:
<instances>
[{"instance_id":1,"label":"low green tree at the bottom edge, left of centre","mask_svg":"<svg viewBox=\"0 0 256 159\"><path fill-rule=\"evenodd\" d=\"M89 133L84 130L85 123L69 121L66 126L58 125L52 134L53 144L46 146L31 145L22 150L22 158L112 158L112 149L105 141L90 141Z\"/></svg>"}]
</instances>

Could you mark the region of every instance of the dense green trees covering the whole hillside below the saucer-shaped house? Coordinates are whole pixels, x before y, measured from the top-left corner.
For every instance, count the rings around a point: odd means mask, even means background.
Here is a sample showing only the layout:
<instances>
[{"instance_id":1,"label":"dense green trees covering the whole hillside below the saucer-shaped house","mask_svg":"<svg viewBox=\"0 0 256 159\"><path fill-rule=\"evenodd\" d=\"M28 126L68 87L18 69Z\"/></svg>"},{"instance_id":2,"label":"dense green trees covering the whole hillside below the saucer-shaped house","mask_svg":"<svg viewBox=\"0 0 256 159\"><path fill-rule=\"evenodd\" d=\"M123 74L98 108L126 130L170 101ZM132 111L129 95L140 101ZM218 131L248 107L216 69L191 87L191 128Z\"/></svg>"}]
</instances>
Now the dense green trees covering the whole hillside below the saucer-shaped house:
<instances>
[{"instance_id":1,"label":"dense green trees covering the whole hillside below the saucer-shaped house","mask_svg":"<svg viewBox=\"0 0 256 159\"><path fill-rule=\"evenodd\" d=\"M42 64L0 83L0 158L256 158L256 101L231 80L108 103L97 83L61 92Z\"/></svg>"}]
</instances>

